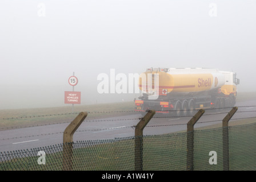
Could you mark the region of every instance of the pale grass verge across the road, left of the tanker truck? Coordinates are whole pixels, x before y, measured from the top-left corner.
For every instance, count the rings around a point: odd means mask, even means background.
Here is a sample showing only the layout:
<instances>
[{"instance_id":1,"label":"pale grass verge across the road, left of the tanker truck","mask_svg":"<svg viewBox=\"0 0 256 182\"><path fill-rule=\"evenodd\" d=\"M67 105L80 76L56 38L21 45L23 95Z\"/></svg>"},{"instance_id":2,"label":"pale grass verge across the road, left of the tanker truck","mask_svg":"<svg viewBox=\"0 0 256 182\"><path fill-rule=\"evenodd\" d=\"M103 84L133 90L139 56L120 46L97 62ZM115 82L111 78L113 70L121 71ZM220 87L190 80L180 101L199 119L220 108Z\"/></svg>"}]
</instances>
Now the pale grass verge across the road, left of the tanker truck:
<instances>
[{"instance_id":1,"label":"pale grass verge across the road, left of the tanker truck","mask_svg":"<svg viewBox=\"0 0 256 182\"><path fill-rule=\"evenodd\" d=\"M17 127L46 125L49 123L71 122L78 113L87 111L86 119L97 119L133 114L134 102L75 106L49 107L37 109L0 110L0 130Z\"/></svg>"}]
</instances>

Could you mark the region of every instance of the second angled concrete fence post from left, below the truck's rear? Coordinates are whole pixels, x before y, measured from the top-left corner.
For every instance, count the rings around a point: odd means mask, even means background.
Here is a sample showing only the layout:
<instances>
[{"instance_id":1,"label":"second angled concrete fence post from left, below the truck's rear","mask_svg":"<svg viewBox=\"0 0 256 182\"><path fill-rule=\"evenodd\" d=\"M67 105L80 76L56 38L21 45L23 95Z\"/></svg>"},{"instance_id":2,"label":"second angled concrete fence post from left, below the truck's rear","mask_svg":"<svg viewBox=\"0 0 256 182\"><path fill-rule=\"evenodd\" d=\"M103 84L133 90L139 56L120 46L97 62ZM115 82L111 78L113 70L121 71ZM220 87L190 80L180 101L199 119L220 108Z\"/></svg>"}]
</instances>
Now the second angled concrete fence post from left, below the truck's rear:
<instances>
[{"instance_id":1,"label":"second angled concrete fence post from left, below the truck's rear","mask_svg":"<svg viewBox=\"0 0 256 182\"><path fill-rule=\"evenodd\" d=\"M135 171L142 171L143 169L143 129L154 114L155 110L148 110L135 127Z\"/></svg>"}]
</instances>

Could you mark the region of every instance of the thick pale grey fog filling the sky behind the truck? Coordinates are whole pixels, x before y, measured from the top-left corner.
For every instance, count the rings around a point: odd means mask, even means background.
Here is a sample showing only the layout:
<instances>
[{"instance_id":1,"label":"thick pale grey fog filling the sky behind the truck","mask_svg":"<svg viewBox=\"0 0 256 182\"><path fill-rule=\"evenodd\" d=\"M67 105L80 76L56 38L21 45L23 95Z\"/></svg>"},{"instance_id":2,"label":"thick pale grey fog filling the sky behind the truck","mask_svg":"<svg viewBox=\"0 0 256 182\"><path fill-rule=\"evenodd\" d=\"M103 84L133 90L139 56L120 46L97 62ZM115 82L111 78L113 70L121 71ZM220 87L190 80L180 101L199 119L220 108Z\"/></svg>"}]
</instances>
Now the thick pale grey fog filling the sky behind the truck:
<instances>
[{"instance_id":1,"label":"thick pale grey fog filling the sky behind the truck","mask_svg":"<svg viewBox=\"0 0 256 182\"><path fill-rule=\"evenodd\" d=\"M256 1L0 1L0 109L67 106L75 73L81 105L133 101L98 93L97 77L146 68L237 72L256 91ZM115 82L115 84L118 81ZM137 80L135 81L135 84Z\"/></svg>"}]
</instances>

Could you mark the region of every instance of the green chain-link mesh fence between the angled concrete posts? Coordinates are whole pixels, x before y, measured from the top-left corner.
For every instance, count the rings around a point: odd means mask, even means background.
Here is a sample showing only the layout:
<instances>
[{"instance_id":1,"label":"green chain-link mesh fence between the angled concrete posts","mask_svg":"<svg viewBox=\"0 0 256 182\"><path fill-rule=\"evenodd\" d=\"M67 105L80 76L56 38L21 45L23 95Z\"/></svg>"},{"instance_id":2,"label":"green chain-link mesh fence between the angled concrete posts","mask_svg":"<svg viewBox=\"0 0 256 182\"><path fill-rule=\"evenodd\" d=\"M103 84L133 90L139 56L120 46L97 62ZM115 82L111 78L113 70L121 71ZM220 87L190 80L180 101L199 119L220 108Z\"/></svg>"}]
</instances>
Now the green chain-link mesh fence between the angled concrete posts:
<instances>
[{"instance_id":1,"label":"green chain-link mesh fence between the angled concrete posts","mask_svg":"<svg viewBox=\"0 0 256 182\"><path fill-rule=\"evenodd\" d=\"M229 126L230 170L256 169L256 123ZM194 130L194 170L223 170L222 127ZM143 136L143 170L185 171L187 132ZM73 143L73 170L134 171L135 137ZM215 156L215 158L213 158ZM45 162L45 164L43 164ZM0 170L63 169L63 144L0 153Z\"/></svg>"}]
</instances>

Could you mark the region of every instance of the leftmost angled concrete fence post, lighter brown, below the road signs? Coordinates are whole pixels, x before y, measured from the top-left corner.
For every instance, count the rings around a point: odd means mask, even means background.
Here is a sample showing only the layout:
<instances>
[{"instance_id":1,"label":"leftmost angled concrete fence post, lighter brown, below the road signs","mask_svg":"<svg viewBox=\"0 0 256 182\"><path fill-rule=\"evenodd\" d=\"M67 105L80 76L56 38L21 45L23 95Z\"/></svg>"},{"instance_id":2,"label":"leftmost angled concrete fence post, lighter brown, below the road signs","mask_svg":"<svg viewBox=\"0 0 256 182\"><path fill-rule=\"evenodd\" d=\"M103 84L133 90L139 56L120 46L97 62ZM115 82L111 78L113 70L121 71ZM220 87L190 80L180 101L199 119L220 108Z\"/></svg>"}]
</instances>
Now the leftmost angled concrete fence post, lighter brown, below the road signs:
<instances>
[{"instance_id":1,"label":"leftmost angled concrete fence post, lighter brown, below the road signs","mask_svg":"<svg viewBox=\"0 0 256 182\"><path fill-rule=\"evenodd\" d=\"M73 169L73 135L86 116L87 112L79 113L63 133L63 171L71 171Z\"/></svg>"}]
</instances>

